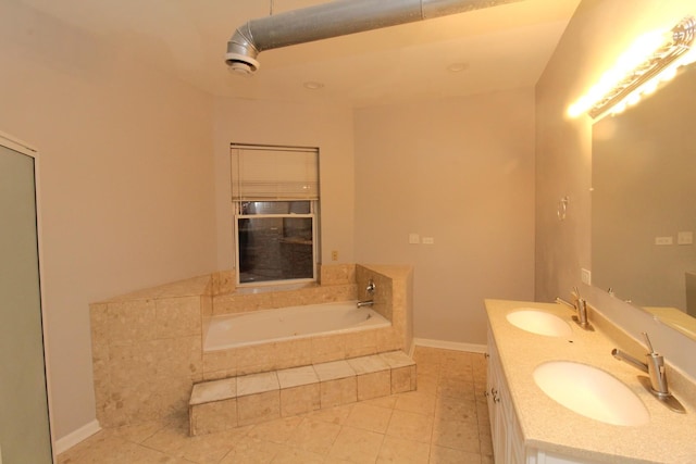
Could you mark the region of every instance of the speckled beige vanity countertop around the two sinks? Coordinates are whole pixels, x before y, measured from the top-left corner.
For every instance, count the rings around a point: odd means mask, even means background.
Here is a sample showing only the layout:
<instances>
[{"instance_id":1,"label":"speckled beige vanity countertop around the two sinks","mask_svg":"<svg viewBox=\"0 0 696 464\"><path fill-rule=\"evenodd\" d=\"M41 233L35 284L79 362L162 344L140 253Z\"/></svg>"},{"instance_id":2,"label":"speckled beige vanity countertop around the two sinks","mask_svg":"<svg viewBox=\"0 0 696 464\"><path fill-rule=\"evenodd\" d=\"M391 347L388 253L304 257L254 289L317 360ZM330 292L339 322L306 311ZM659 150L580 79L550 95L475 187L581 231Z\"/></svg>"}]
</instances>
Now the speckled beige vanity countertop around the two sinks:
<instances>
[{"instance_id":1,"label":"speckled beige vanity countertop around the two sinks","mask_svg":"<svg viewBox=\"0 0 696 464\"><path fill-rule=\"evenodd\" d=\"M607 463L696 463L696 409L673 391L686 414L668 410L639 383L638 377L646 374L611 355L613 348L624 347L617 346L601 329L583 330L572 322L573 312L561 304L486 300L485 305L525 447ZM572 334L546 337L506 319L508 313L523 308L560 316L570 323ZM609 425L547 397L534 383L533 372L544 362L559 360L588 364L617 377L643 401L649 422L641 426Z\"/></svg>"}]
</instances>

